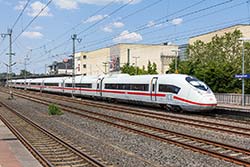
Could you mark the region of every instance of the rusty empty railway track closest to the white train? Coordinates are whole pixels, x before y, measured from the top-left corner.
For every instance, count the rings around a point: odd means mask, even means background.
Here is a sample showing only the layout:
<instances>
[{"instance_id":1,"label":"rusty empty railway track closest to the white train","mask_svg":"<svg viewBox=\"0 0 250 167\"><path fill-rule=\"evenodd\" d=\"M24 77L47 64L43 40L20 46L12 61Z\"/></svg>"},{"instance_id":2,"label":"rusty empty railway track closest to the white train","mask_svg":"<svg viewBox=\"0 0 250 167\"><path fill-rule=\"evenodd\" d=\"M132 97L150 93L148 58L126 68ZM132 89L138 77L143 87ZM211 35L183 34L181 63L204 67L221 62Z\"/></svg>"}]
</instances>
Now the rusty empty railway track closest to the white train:
<instances>
[{"instance_id":1,"label":"rusty empty railway track closest to the white train","mask_svg":"<svg viewBox=\"0 0 250 167\"><path fill-rule=\"evenodd\" d=\"M19 92L20 93L20 92ZM18 94L16 92L16 95L27 95L24 93ZM39 95L34 93L34 95ZM244 127L238 127L238 126L232 126L232 125L227 125L227 124L222 124L222 123L216 123L216 122L209 122L209 121L203 121L203 120L197 120L197 119L192 119L192 118L184 118L180 116L174 116L174 115L166 115L160 112L157 113L152 113L149 111L145 111L142 109L132 109L124 106L113 106L113 105L105 105L105 104L98 104L95 102L89 102L89 101L80 101L80 100L74 100L70 98L65 98L62 96L56 96L56 95L49 95L49 94L42 94L43 97L45 98L52 98L54 100L60 100L60 101L65 101L65 102L70 102L70 103L77 103L77 104L82 104L82 105L88 105L92 107L98 107L102 109L108 109L110 111L114 112L120 112L120 113L128 113L128 114L133 114L137 116L143 116L146 118L153 118L161 121L168 121L168 122L173 122L173 123L179 123L179 124L184 124L184 125L189 125L189 126L194 126L197 128L205 128L209 130L214 130L217 132L222 132L222 133L230 133L234 135L241 135L244 137L250 137L250 128L244 128ZM30 95L29 97L32 97ZM224 120L225 121L225 120ZM249 124L248 124L249 125Z\"/></svg>"}]
</instances>

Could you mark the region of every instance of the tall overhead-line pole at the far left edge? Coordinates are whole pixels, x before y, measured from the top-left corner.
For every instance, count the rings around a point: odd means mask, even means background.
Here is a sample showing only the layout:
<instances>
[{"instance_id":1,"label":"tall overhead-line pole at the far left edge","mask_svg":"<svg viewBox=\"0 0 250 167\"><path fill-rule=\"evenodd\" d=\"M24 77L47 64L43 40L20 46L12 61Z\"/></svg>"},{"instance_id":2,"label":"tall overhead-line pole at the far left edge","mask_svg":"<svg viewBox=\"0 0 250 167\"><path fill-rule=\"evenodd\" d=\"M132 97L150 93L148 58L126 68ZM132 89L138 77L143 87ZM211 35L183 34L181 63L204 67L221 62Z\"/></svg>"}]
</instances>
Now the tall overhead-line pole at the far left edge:
<instances>
[{"instance_id":1,"label":"tall overhead-line pole at the far left edge","mask_svg":"<svg viewBox=\"0 0 250 167\"><path fill-rule=\"evenodd\" d=\"M9 85L9 81L10 83L12 83L12 66L15 65L16 63L12 63L12 55L15 55L14 53L12 53L12 29L8 29L7 33L2 33L1 37L5 38L6 36L9 36L9 53L7 53L7 55L9 55L9 65L8 65L8 72L7 72L7 86L9 88L9 93L10 93L10 99L13 99L13 92L11 90L11 87Z\"/></svg>"}]
</instances>

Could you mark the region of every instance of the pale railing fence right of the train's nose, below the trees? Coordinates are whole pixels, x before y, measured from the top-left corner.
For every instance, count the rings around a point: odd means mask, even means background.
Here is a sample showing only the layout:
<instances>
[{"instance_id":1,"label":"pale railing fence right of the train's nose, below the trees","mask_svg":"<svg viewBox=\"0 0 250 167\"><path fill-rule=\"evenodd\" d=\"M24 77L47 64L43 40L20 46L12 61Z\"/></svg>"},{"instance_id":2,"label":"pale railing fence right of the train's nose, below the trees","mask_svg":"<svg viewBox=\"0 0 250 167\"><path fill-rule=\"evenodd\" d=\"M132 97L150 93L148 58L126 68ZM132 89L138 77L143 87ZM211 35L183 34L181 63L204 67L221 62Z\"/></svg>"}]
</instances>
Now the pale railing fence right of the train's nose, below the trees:
<instances>
[{"instance_id":1,"label":"pale railing fence right of the train's nose, below the trees","mask_svg":"<svg viewBox=\"0 0 250 167\"><path fill-rule=\"evenodd\" d=\"M218 104L235 104L241 105L242 95L231 93L215 93ZM245 105L250 105L250 94L245 95Z\"/></svg>"}]
</instances>

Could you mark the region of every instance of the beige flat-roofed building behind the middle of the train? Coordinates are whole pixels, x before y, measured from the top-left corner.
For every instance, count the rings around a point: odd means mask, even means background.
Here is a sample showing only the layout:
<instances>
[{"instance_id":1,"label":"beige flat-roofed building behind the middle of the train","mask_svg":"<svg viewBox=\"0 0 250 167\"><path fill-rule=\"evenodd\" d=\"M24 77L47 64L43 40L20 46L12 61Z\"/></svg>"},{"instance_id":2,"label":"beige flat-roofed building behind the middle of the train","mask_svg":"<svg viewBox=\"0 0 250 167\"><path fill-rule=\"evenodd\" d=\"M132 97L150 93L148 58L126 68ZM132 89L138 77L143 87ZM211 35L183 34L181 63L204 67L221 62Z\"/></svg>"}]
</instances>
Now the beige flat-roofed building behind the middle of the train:
<instances>
[{"instance_id":1,"label":"beige flat-roofed building behind the middle of the train","mask_svg":"<svg viewBox=\"0 0 250 167\"><path fill-rule=\"evenodd\" d=\"M89 52L75 54L76 74L100 75L119 73L128 63L136 67L147 67L148 62L156 63L157 72L164 74L169 64L178 57L177 45L116 44Z\"/></svg>"}]
</instances>

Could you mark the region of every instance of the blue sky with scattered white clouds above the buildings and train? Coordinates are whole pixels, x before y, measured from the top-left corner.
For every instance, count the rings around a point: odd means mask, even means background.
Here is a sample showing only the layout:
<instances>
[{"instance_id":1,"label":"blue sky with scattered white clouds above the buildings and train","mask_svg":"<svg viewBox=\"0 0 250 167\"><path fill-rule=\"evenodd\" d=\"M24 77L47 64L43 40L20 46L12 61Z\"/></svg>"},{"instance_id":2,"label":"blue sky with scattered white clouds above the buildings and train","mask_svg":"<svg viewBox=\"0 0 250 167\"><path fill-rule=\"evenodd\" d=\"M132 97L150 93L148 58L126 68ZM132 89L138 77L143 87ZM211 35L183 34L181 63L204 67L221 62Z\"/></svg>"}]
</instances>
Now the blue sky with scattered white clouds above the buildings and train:
<instances>
[{"instance_id":1,"label":"blue sky with scattered white clouds above the buildings and train","mask_svg":"<svg viewBox=\"0 0 250 167\"><path fill-rule=\"evenodd\" d=\"M188 38L234 24L249 24L247 0L0 0L0 33L13 28L13 71L43 73L45 64L72 52L71 35L81 39L77 51L116 43L185 44ZM27 25L31 23L28 27ZM27 29L26 29L27 27ZM0 72L8 63L8 38L0 39Z\"/></svg>"}]
</instances>

